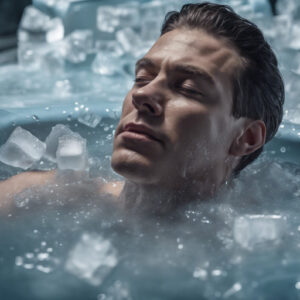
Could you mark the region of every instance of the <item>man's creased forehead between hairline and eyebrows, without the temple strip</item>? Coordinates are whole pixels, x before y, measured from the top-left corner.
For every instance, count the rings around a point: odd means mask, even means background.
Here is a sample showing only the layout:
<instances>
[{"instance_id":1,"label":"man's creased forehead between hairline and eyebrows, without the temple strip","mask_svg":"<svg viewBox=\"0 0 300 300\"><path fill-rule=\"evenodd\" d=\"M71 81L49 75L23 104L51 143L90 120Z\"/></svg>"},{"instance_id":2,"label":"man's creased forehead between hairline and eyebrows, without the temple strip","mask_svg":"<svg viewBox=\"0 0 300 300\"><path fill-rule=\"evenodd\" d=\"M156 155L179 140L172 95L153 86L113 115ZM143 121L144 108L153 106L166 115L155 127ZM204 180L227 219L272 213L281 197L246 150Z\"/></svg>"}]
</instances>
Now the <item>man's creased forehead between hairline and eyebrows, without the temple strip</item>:
<instances>
[{"instance_id":1,"label":"man's creased forehead between hairline and eyebrows, without the temple strip","mask_svg":"<svg viewBox=\"0 0 300 300\"><path fill-rule=\"evenodd\" d=\"M233 46L203 30L176 29L162 35L145 57L159 63L191 63L207 68L212 75L230 75L242 64Z\"/></svg>"}]
</instances>

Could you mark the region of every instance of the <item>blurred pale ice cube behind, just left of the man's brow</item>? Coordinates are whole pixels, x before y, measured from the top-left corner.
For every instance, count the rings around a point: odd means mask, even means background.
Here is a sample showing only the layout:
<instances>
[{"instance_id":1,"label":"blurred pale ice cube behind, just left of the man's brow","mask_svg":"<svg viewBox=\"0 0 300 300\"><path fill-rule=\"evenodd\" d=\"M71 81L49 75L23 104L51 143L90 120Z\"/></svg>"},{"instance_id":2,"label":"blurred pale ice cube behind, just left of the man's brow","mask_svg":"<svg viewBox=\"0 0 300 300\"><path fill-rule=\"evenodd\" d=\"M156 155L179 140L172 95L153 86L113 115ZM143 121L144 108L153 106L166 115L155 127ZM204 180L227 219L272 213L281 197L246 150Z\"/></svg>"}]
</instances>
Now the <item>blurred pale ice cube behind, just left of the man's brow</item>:
<instances>
[{"instance_id":1,"label":"blurred pale ice cube behind, just left of the man's brow","mask_svg":"<svg viewBox=\"0 0 300 300\"><path fill-rule=\"evenodd\" d=\"M98 53L92 63L92 71L101 75L115 75L120 72L118 57L109 53Z\"/></svg>"}]
</instances>

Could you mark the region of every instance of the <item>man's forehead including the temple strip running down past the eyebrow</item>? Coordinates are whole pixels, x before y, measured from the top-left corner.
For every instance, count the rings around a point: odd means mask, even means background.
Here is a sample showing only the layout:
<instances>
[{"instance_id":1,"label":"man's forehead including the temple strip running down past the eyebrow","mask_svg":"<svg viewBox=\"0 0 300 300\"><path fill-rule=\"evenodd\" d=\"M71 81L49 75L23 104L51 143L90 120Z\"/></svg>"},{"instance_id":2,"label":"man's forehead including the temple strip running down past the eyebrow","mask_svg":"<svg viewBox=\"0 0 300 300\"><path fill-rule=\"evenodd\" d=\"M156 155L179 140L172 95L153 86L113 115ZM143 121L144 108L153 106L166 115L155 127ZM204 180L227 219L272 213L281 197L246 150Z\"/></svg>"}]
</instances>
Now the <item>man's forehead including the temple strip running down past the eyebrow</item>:
<instances>
[{"instance_id":1,"label":"man's forehead including the temple strip running down past the eyebrow","mask_svg":"<svg viewBox=\"0 0 300 300\"><path fill-rule=\"evenodd\" d=\"M216 38L199 29L176 29L162 35L145 58L158 69L185 64L206 73L215 83L216 91L232 103L232 78L242 66L238 51L225 38ZM227 99L226 99L227 98Z\"/></svg>"}]
</instances>

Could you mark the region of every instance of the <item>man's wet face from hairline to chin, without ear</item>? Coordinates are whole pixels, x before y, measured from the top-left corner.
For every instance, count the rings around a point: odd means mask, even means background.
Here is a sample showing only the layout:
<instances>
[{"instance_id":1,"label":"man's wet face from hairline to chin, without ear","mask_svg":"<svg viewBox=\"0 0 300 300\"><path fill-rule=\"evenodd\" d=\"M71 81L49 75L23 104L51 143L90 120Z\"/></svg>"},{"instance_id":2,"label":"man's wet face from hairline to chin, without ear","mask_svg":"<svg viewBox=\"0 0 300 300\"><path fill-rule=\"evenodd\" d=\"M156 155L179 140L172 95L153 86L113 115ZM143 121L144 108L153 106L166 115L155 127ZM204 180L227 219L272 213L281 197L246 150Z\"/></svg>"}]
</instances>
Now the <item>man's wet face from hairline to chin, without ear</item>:
<instances>
[{"instance_id":1,"label":"man's wet face from hairline to chin, without ear","mask_svg":"<svg viewBox=\"0 0 300 300\"><path fill-rule=\"evenodd\" d=\"M124 100L115 171L171 188L222 181L237 128L232 75L240 64L233 47L204 31L161 36L137 62L136 82Z\"/></svg>"}]
</instances>

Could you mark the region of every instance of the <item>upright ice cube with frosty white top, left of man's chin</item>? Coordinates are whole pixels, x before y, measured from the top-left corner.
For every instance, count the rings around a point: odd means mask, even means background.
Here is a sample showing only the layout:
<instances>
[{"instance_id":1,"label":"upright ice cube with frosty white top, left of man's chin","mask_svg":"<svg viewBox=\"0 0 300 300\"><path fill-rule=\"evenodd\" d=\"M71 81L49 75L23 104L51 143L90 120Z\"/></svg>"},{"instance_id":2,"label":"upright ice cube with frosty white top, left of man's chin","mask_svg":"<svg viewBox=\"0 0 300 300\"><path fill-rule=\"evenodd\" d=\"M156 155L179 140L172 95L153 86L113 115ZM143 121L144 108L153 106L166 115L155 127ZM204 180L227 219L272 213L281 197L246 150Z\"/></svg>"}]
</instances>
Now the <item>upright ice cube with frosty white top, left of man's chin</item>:
<instances>
[{"instance_id":1,"label":"upright ice cube with frosty white top, left of man's chin","mask_svg":"<svg viewBox=\"0 0 300 300\"><path fill-rule=\"evenodd\" d=\"M87 167L86 140L74 134L60 137L56 161L60 170L85 170Z\"/></svg>"}]
</instances>

